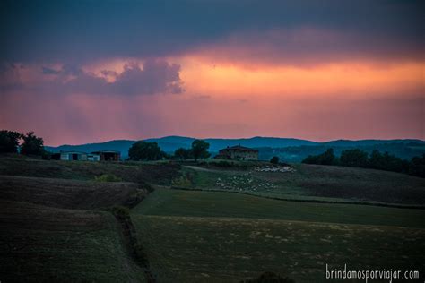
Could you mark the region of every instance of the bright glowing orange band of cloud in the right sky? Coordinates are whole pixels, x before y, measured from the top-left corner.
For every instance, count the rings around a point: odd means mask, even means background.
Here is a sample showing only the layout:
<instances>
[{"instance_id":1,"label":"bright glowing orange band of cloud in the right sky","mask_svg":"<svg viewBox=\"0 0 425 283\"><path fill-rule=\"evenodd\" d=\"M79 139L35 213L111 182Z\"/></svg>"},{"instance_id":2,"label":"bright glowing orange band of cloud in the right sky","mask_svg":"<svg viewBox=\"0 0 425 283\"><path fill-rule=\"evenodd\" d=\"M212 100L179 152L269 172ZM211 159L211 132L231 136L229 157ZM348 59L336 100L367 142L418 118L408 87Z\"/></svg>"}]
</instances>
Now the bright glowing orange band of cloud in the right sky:
<instances>
[{"instance_id":1,"label":"bright glowing orange band of cloud in the right sky","mask_svg":"<svg viewBox=\"0 0 425 283\"><path fill-rule=\"evenodd\" d=\"M342 62L311 67L263 65L249 68L232 62L186 57L182 80L186 90L214 97L370 97L423 94L425 63L373 64Z\"/></svg>"}]
</instances>

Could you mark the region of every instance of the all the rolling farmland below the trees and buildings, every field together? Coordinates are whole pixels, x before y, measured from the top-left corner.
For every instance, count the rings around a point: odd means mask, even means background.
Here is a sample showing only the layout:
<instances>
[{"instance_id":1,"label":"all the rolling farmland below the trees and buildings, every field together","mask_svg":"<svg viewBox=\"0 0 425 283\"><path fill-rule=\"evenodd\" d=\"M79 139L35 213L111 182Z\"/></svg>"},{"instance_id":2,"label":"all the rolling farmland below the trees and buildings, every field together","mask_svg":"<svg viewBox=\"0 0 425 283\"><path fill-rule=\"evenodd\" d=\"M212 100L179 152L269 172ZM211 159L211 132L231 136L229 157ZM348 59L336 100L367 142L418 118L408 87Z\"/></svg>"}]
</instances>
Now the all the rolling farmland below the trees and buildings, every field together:
<instances>
[{"instance_id":1,"label":"all the rolling farmland below the trees and buildings, every field together","mask_svg":"<svg viewBox=\"0 0 425 283\"><path fill-rule=\"evenodd\" d=\"M273 271L327 282L326 263L425 270L425 210L370 205L421 207L423 179L256 169L268 166L0 158L0 280L239 282ZM122 182L95 180L104 174ZM131 208L132 227L107 210L116 205Z\"/></svg>"}]
</instances>

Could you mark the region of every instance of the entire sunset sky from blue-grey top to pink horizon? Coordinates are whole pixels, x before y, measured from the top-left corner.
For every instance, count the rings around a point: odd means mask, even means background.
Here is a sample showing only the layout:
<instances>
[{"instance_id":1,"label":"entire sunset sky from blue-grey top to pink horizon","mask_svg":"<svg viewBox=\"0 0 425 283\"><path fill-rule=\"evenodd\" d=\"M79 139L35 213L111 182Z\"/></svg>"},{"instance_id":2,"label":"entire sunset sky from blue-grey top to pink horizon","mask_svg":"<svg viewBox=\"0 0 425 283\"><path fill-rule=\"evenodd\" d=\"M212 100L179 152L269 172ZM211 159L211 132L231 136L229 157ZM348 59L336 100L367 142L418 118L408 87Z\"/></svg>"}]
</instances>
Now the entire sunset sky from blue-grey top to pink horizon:
<instances>
[{"instance_id":1,"label":"entire sunset sky from blue-grey top to pink horizon","mask_svg":"<svg viewBox=\"0 0 425 283\"><path fill-rule=\"evenodd\" d=\"M1 1L0 129L425 140L423 1Z\"/></svg>"}]
</instances>

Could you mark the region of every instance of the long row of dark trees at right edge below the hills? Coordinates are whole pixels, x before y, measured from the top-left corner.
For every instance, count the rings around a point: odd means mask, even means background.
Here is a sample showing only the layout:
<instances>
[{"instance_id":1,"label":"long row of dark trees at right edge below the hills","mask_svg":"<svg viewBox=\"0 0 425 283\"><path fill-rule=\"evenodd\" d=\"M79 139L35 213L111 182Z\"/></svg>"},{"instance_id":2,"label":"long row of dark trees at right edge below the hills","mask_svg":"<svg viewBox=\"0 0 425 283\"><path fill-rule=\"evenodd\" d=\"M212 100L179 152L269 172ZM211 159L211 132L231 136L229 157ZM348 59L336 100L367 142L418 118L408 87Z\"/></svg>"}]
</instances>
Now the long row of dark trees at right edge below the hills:
<instances>
[{"instance_id":1,"label":"long row of dark trees at right edge below the hills","mask_svg":"<svg viewBox=\"0 0 425 283\"><path fill-rule=\"evenodd\" d=\"M373 150L369 155L366 151L352 149L343 150L338 158L334 155L334 149L328 149L318 155L309 155L302 163L373 168L425 177L425 154L406 160L388 152L381 153L379 150Z\"/></svg>"}]
</instances>

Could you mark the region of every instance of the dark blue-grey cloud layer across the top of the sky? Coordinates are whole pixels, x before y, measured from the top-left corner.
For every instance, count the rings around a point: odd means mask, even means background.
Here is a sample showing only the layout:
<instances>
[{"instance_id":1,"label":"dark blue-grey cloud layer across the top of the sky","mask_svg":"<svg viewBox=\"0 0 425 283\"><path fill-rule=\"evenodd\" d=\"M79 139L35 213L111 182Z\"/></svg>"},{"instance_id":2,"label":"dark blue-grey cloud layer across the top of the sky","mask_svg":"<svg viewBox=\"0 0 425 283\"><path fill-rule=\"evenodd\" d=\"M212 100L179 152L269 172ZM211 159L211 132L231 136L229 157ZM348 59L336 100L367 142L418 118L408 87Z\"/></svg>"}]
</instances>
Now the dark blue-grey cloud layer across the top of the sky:
<instances>
[{"instance_id":1,"label":"dark blue-grey cloud layer across the top of the sky","mask_svg":"<svg viewBox=\"0 0 425 283\"><path fill-rule=\"evenodd\" d=\"M9 62L171 56L251 30L304 27L356 37L286 51L285 42L271 44L286 56L347 49L414 57L424 50L423 1L3 1L0 11L0 61Z\"/></svg>"}]
</instances>

